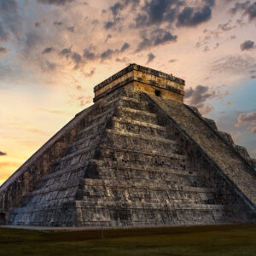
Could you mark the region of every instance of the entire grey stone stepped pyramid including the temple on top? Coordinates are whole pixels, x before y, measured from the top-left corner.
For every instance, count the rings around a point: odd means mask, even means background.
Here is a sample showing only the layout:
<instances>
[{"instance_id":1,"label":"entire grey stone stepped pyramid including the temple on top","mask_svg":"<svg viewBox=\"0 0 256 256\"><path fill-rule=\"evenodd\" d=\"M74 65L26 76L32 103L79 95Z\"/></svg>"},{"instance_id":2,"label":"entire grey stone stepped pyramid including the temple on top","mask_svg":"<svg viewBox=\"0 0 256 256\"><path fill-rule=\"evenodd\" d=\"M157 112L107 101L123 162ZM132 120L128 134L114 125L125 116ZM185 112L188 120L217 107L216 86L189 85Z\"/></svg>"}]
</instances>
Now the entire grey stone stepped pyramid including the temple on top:
<instances>
[{"instance_id":1,"label":"entire grey stone stepped pyramid including the temple on top","mask_svg":"<svg viewBox=\"0 0 256 256\"><path fill-rule=\"evenodd\" d=\"M2 223L256 221L256 160L183 104L183 79L131 64L3 183Z\"/></svg>"}]
</instances>

